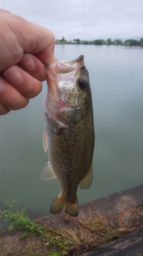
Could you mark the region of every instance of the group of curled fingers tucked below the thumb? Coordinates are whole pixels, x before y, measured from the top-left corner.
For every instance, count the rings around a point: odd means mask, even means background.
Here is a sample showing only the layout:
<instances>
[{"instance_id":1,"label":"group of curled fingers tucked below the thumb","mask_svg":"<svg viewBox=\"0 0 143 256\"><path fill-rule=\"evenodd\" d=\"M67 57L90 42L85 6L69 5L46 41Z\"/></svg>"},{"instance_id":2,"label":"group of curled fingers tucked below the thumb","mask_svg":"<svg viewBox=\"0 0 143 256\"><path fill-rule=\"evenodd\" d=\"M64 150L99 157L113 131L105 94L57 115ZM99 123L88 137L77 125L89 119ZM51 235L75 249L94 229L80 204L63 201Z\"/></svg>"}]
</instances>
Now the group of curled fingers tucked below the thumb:
<instances>
[{"instance_id":1,"label":"group of curled fingers tucked below the thumb","mask_svg":"<svg viewBox=\"0 0 143 256\"><path fill-rule=\"evenodd\" d=\"M19 66L8 67L0 76L0 115L24 108L42 90L41 81L46 79L43 63L32 54L24 54Z\"/></svg>"}]
</instances>

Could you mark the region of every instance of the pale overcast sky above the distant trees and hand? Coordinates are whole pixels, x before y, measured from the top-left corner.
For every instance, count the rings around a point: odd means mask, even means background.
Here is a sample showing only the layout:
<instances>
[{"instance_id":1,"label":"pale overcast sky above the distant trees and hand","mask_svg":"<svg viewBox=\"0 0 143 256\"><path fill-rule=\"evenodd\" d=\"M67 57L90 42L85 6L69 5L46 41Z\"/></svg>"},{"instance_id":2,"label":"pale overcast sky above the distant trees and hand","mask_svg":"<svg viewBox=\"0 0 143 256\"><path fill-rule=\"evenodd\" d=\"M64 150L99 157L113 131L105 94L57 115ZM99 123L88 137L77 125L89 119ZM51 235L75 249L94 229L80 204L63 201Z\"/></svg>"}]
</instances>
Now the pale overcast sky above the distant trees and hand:
<instances>
[{"instance_id":1,"label":"pale overcast sky above the distant trees and hand","mask_svg":"<svg viewBox=\"0 0 143 256\"><path fill-rule=\"evenodd\" d=\"M143 37L143 0L1 0L0 8L66 40Z\"/></svg>"}]
</instances>

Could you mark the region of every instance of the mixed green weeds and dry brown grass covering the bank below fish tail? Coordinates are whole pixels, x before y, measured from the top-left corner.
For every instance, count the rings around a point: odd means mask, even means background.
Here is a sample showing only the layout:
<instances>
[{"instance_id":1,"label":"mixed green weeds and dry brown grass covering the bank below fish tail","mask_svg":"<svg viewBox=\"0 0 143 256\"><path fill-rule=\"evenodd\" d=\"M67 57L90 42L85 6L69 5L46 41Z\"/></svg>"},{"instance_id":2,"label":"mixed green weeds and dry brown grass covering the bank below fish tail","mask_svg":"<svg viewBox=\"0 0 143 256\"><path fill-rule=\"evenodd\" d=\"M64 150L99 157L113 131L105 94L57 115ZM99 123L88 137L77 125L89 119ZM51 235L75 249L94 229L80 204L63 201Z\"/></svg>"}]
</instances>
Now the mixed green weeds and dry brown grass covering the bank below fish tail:
<instances>
[{"instance_id":1,"label":"mixed green weeds and dry brown grass covering the bank below fish tail","mask_svg":"<svg viewBox=\"0 0 143 256\"><path fill-rule=\"evenodd\" d=\"M3 254L0 248L1 255L4 256L77 256L109 241L120 238L123 234L133 231L134 228L131 226L131 223L127 223L123 212L120 216L120 221L117 215L117 226L110 225L111 223L108 219L102 216L97 217L95 215L93 218L93 215L90 214L88 219L87 217L83 217L81 221L78 218L69 217L65 214L63 218L65 218L66 222L69 220L72 223L74 222L74 228L66 229L59 227L59 229L53 229L45 225L41 219L32 221L25 214L26 207L14 211L14 204L15 201L12 201L10 205L7 204L5 210L0 210L0 217L5 218L5 221L10 221L9 230L15 230L16 228L23 230L22 236L19 239L31 239L31 236L33 236L35 238L37 237L37 242L31 242L31 246L28 245L23 250L19 249L14 254ZM0 247L2 246L0 245ZM36 250L36 248L38 249ZM19 254L20 250L21 254Z\"/></svg>"}]
</instances>

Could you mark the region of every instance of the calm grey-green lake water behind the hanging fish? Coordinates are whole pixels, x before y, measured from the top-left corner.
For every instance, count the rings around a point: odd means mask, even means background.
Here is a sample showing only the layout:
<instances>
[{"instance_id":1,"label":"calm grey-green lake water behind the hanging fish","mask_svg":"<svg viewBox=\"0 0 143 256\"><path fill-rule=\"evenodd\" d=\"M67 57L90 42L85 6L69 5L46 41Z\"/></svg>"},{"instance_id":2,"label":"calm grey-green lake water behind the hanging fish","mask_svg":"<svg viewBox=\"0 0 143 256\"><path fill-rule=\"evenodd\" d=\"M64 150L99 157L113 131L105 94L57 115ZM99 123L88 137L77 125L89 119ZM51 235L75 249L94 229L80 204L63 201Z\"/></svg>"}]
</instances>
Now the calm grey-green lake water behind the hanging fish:
<instances>
[{"instance_id":1,"label":"calm grey-green lake water behind the hanging fish","mask_svg":"<svg viewBox=\"0 0 143 256\"><path fill-rule=\"evenodd\" d=\"M79 204L143 183L143 50L120 46L56 45L55 57L84 54L93 95L95 151L90 189L78 189ZM60 193L58 180L40 179L47 86L30 104L0 117L0 200L16 200L49 214ZM38 215L38 213L37 213Z\"/></svg>"}]
</instances>

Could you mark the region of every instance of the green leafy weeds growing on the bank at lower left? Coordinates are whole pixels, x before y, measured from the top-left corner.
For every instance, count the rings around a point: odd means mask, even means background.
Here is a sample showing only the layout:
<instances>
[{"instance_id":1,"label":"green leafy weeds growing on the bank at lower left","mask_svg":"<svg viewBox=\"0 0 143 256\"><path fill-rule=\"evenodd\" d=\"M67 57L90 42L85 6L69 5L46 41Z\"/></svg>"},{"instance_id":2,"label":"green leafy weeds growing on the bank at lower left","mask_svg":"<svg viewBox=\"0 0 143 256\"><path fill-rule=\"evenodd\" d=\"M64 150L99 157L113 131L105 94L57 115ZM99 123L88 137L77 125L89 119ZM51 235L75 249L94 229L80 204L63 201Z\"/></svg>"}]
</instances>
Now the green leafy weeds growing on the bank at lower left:
<instances>
[{"instance_id":1,"label":"green leafy weeds growing on the bank at lower left","mask_svg":"<svg viewBox=\"0 0 143 256\"><path fill-rule=\"evenodd\" d=\"M4 211L0 210L0 217L5 218L5 221L10 220L8 227L9 230L14 228L24 230L23 235L19 239L25 239L30 234L32 234L33 237L40 236L45 245L50 244L51 247L57 247L58 250L62 252L62 254L59 252L54 252L51 254L52 256L61 256L67 254L69 245L73 244L73 242L69 240L70 238L67 237L66 234L60 232L59 230L54 230L41 222L40 224L37 224L36 222L31 221L30 217L25 215L26 208L22 208L21 210L16 210L14 212L14 204L15 201L12 201L10 205L6 205L7 209Z\"/></svg>"}]
</instances>

